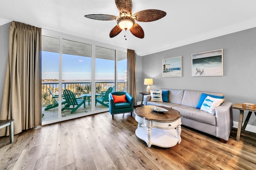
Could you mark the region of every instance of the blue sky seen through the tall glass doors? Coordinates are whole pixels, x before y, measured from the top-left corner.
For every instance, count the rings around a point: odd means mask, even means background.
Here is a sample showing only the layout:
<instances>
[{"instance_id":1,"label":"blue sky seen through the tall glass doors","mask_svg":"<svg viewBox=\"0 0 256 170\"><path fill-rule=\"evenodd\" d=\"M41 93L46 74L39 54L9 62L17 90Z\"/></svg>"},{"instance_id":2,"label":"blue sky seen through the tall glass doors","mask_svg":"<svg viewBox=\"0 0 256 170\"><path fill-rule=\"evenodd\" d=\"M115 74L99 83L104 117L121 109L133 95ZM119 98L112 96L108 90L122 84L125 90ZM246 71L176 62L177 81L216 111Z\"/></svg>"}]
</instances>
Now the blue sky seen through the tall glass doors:
<instances>
[{"instance_id":1,"label":"blue sky seen through the tall glass doors","mask_svg":"<svg viewBox=\"0 0 256 170\"><path fill-rule=\"evenodd\" d=\"M91 80L91 57L62 54L62 80ZM118 61L118 80L124 80L127 60ZM115 62L95 59L95 79L114 80ZM59 53L42 51L42 79L59 79Z\"/></svg>"}]
</instances>

